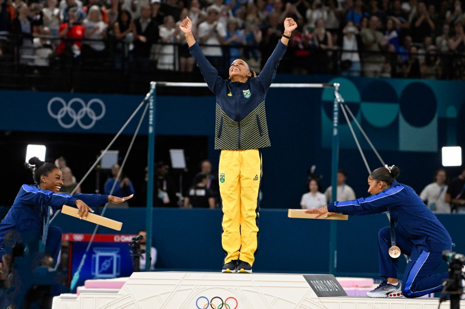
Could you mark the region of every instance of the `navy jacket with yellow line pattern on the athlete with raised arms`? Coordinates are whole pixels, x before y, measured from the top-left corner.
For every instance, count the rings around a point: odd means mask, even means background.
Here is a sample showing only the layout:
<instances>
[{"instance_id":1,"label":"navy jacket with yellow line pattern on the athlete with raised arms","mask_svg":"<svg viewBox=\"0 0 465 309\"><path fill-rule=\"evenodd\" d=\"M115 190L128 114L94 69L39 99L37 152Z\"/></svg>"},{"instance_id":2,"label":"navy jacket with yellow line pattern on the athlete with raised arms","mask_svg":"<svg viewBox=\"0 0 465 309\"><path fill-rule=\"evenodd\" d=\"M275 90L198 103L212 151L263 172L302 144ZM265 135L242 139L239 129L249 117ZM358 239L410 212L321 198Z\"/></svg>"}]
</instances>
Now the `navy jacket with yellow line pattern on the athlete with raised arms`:
<instances>
[{"instance_id":1,"label":"navy jacket with yellow line pattern on the athlete with raised arms","mask_svg":"<svg viewBox=\"0 0 465 309\"><path fill-rule=\"evenodd\" d=\"M287 50L279 40L273 54L257 77L247 82L231 82L218 76L218 71L205 58L198 43L189 47L208 88L217 97L215 149L246 150L269 147L265 114L265 94Z\"/></svg>"}]
</instances>

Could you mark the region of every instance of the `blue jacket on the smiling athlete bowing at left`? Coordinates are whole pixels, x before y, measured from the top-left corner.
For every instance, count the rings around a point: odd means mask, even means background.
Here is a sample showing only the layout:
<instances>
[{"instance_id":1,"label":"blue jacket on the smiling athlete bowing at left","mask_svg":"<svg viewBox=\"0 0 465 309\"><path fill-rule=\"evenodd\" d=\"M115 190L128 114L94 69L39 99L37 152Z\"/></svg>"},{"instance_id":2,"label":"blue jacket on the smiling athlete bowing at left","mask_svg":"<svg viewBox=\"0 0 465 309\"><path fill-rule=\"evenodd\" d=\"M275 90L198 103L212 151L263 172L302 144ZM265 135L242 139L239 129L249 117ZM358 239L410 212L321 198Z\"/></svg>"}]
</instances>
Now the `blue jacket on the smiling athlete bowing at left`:
<instances>
[{"instance_id":1,"label":"blue jacket on the smiling athlete bowing at left","mask_svg":"<svg viewBox=\"0 0 465 309\"><path fill-rule=\"evenodd\" d=\"M108 203L108 195L101 194L64 194L40 190L37 185L22 185L16 195L15 202L0 223L0 243L3 237L12 230L16 232L37 232L42 234L43 209L50 206L55 212L63 205L75 206L76 200L82 200L88 206L98 206Z\"/></svg>"}]
</instances>

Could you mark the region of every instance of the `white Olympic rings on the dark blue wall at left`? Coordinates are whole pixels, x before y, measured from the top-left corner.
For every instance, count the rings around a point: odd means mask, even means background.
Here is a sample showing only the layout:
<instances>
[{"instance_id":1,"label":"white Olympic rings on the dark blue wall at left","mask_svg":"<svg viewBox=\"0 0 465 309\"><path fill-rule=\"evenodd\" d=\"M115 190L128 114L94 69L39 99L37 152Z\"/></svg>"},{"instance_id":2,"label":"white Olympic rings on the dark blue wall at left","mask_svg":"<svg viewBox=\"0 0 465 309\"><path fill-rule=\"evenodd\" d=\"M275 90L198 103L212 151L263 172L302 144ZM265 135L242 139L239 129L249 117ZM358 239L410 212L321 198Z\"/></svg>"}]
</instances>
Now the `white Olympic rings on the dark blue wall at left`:
<instances>
[{"instance_id":1,"label":"white Olympic rings on the dark blue wall at left","mask_svg":"<svg viewBox=\"0 0 465 309\"><path fill-rule=\"evenodd\" d=\"M62 107L58 110L56 114L52 111L52 104L55 102L62 104ZM81 108L78 111L76 111L71 106L75 102L80 104L81 106ZM102 111L100 112L100 115L98 116L95 114L95 111L91 108L93 103L98 103L100 105L100 108L102 109ZM68 103L66 103L62 98L54 97L50 99L50 101L48 101L47 110L48 110L48 114L52 118L58 119L58 123L65 129L72 128L76 124L76 122L78 122L78 125L82 129L88 130L94 126L97 120L100 120L105 116L105 104L100 99L92 99L86 104L80 98L71 99ZM72 119L71 123L63 122L63 118L66 115L68 115L68 117ZM91 123L89 124L82 123L81 120L85 116L89 117L92 120Z\"/></svg>"}]
</instances>

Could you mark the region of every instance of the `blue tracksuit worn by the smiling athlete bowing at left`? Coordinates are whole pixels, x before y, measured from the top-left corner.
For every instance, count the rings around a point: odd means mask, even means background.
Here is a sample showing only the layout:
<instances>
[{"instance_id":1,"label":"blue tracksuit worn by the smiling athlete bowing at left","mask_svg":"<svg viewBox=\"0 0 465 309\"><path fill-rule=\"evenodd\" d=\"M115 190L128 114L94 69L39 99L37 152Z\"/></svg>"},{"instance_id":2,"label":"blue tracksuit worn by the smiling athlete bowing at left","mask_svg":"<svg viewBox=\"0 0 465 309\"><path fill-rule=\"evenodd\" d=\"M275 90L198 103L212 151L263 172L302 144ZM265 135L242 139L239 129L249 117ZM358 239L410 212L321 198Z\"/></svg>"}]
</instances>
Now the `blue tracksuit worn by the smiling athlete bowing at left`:
<instances>
[{"instance_id":1,"label":"blue tracksuit worn by the smiling athlete bowing at left","mask_svg":"<svg viewBox=\"0 0 465 309\"><path fill-rule=\"evenodd\" d=\"M62 194L52 191L40 190L37 185L22 185L16 195L15 202L0 223L0 250L1 256L5 251L11 250L18 241L18 236L40 237L44 226L44 209L51 207L51 212L55 213L63 205L75 206L76 200L82 200L88 206L98 206L108 202L108 195L101 194ZM51 215L51 214L50 214ZM5 236L15 231L16 235ZM23 239L25 240L25 239ZM62 231L58 227L50 226L48 229L46 252L56 261L60 252L62 241Z\"/></svg>"}]
</instances>

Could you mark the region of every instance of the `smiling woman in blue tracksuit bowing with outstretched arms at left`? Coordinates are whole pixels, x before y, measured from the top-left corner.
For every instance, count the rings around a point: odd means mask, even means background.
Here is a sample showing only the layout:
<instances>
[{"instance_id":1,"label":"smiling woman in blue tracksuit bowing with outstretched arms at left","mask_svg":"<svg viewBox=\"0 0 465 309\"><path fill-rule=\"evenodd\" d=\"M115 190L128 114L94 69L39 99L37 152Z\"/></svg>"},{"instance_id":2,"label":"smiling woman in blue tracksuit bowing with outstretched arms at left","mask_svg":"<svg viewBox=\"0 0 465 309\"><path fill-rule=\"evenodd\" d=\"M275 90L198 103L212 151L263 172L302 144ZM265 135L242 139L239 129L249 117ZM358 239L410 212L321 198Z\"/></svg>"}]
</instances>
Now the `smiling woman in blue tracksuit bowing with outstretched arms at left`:
<instances>
[{"instance_id":1,"label":"smiling woman in blue tracksuit bowing with outstretched arms at left","mask_svg":"<svg viewBox=\"0 0 465 309\"><path fill-rule=\"evenodd\" d=\"M10 253L17 243L23 246L38 247L38 240L45 243L45 253L58 259L61 248L62 231L48 226L51 216L63 205L77 206L79 217L86 217L89 206L108 203L122 203L129 197L120 198L101 194L62 194L62 172L51 163L33 157L27 166L33 172L34 185L22 185L13 206L0 223L0 262L5 253ZM89 206L88 206L89 205Z\"/></svg>"}]
</instances>

